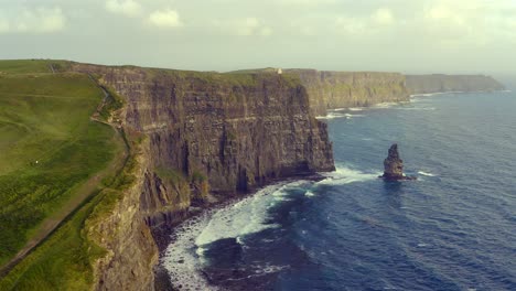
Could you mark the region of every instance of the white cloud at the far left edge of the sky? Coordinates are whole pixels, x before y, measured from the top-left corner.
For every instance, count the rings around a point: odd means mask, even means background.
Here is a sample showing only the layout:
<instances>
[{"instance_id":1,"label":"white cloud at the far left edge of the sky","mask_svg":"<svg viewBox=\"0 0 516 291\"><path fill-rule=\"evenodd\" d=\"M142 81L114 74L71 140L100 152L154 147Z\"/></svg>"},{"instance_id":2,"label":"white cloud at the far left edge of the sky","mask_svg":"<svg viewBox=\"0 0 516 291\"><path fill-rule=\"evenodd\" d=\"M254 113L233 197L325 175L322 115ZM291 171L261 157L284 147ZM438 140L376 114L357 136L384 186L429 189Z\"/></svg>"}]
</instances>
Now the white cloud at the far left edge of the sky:
<instances>
[{"instance_id":1,"label":"white cloud at the far left edge of the sky","mask_svg":"<svg viewBox=\"0 0 516 291\"><path fill-rule=\"evenodd\" d=\"M58 7L24 9L15 14L17 18L0 20L0 33L52 33L66 26L66 17Z\"/></svg>"}]
</instances>

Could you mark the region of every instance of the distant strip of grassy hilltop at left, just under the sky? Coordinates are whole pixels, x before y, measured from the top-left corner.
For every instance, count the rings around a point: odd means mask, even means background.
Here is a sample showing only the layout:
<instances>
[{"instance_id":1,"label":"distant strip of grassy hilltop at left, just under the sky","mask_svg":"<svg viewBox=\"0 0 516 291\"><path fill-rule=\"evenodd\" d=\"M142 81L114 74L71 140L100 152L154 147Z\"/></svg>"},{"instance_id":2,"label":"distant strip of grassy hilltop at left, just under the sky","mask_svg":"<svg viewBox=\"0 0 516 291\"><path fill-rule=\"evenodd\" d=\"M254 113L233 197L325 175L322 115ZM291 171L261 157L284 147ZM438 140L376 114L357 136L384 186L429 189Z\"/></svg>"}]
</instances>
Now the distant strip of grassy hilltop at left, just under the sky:
<instances>
[{"instance_id":1,"label":"distant strip of grassy hilltop at left, just under the sky","mask_svg":"<svg viewBox=\"0 0 516 291\"><path fill-rule=\"evenodd\" d=\"M2 74L34 74L52 73L50 65L55 71L62 71L67 67L66 61L53 60L8 60L0 61L0 75Z\"/></svg>"}]
</instances>

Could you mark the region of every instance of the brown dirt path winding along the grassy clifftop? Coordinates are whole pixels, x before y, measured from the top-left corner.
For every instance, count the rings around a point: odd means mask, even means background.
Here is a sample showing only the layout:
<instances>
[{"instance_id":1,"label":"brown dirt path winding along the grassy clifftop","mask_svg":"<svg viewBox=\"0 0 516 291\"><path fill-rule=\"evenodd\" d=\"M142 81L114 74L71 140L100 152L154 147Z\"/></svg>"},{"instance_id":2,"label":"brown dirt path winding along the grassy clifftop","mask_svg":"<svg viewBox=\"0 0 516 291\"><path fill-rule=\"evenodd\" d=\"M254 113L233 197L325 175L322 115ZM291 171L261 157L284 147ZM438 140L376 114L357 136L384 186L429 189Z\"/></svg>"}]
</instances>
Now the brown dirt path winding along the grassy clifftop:
<instances>
[{"instance_id":1,"label":"brown dirt path winding along the grassy clifftop","mask_svg":"<svg viewBox=\"0 0 516 291\"><path fill-rule=\"evenodd\" d=\"M95 82L93 78L92 80ZM126 140L122 138L122 133L118 129L117 125L95 117L104 108L107 99L109 98L109 93L101 86L98 85L98 87L103 90L105 96L101 104L97 107L97 111L90 117L90 119L95 122L111 127L115 131L114 139L116 139L117 154L103 171L97 172L85 183L72 190L74 192L72 198L63 205L61 211L45 218L25 246L9 262L0 268L0 278L8 274L9 271L24 259L35 247L52 235L52 233L57 229L57 227L63 224L66 218L71 216L90 195L94 195L96 190L98 190L100 182L105 177L118 175L126 165L127 159L129 158L129 144L127 144Z\"/></svg>"}]
</instances>

